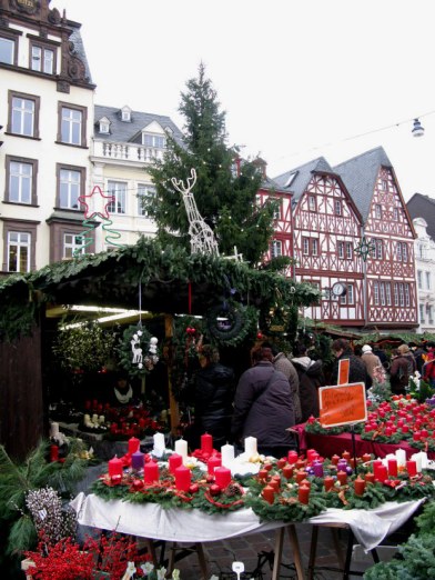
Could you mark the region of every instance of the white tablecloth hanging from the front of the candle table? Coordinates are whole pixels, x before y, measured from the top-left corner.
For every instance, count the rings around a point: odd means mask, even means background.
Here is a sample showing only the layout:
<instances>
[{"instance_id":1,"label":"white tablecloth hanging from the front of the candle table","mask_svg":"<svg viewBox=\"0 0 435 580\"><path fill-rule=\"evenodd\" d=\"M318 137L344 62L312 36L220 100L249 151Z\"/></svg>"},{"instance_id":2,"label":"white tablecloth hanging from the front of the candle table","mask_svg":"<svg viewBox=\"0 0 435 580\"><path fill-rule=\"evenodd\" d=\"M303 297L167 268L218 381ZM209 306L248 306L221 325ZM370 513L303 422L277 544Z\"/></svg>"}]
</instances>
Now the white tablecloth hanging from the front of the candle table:
<instances>
[{"instance_id":1,"label":"white tablecloth hanging from the front of the candle table","mask_svg":"<svg viewBox=\"0 0 435 580\"><path fill-rule=\"evenodd\" d=\"M327 509L308 522L347 523L357 541L371 550L411 518L423 501L387 502L374 510ZM82 526L176 542L212 542L287 526L280 521L261 523L251 509L205 514L195 509L163 509L158 503L105 501L83 492L72 500L71 506Z\"/></svg>"}]
</instances>

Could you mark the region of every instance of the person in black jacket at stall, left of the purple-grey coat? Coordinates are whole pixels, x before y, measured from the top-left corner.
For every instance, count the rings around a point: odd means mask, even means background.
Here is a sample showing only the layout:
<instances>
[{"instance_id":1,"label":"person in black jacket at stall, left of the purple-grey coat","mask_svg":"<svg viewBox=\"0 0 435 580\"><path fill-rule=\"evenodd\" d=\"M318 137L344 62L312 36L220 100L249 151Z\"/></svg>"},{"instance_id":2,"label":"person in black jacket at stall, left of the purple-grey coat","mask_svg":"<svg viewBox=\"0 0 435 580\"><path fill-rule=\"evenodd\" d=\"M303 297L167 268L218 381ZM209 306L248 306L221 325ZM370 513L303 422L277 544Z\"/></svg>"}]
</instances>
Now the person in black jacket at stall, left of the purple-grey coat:
<instances>
[{"instance_id":1,"label":"person in black jacket at stall, left of the purple-grey coat","mask_svg":"<svg viewBox=\"0 0 435 580\"><path fill-rule=\"evenodd\" d=\"M219 351L203 344L198 354L200 369L194 377L194 426L188 437L191 448L200 447L201 436L213 436L218 451L231 438L233 414L234 372L219 362Z\"/></svg>"}]
</instances>

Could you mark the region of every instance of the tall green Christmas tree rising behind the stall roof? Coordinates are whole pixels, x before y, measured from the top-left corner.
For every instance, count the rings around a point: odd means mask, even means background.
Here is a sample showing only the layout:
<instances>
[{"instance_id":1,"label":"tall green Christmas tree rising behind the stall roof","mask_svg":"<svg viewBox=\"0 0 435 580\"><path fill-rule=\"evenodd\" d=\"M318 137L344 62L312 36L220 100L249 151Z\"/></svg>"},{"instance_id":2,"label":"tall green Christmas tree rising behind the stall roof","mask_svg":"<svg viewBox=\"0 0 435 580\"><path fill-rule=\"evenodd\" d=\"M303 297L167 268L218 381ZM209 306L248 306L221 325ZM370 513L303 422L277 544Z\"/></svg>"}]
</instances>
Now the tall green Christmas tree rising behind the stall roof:
<instances>
[{"instance_id":1,"label":"tall green Christmas tree rising behind the stall roof","mask_svg":"<svg viewBox=\"0 0 435 580\"><path fill-rule=\"evenodd\" d=\"M179 111L185 119L183 142L168 136L162 160L150 169L155 198L146 199L146 211L158 224L163 244L180 243L189 248L189 220L181 194L171 179L185 180L196 170L193 196L201 217L213 230L223 256L237 252L257 264L273 232L273 212L277 202L262 207L255 202L263 180L259 160L242 160L237 147L227 146L225 112L220 109L216 91L199 67L198 78L186 82Z\"/></svg>"}]
</instances>

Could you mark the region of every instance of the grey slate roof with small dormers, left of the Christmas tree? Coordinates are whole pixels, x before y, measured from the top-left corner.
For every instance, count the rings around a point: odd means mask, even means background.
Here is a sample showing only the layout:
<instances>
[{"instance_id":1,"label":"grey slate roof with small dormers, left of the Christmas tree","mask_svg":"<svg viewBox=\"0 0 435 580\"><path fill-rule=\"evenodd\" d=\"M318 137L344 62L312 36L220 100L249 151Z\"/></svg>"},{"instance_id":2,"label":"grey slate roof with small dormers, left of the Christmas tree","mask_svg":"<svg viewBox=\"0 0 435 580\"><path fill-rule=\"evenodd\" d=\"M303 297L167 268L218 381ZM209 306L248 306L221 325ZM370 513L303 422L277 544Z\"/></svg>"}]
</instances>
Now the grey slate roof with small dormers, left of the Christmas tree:
<instances>
[{"instance_id":1,"label":"grey slate roof with small dormers, left of the Christmas tree","mask_svg":"<svg viewBox=\"0 0 435 580\"><path fill-rule=\"evenodd\" d=\"M109 133L98 131L98 124L103 117L107 117L110 121ZM131 121L122 121L120 108L95 104L94 119L95 137L104 141L132 142L134 137L152 122L158 122L162 129L169 128L178 142L181 142L183 138L182 132L171 118L163 114L131 111Z\"/></svg>"}]
</instances>

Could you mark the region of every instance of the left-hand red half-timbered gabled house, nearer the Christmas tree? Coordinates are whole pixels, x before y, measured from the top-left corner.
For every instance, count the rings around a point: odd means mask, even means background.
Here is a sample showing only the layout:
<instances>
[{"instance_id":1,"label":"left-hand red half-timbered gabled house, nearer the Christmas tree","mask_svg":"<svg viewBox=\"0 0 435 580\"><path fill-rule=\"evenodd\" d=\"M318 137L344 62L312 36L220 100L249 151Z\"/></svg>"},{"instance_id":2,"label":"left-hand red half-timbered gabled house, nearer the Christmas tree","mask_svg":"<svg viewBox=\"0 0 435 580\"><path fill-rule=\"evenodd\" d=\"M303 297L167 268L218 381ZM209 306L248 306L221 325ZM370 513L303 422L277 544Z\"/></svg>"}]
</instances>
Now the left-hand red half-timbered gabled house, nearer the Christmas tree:
<instances>
[{"instance_id":1,"label":"left-hand red half-timbered gabled house, nearer the Christmas tree","mask_svg":"<svg viewBox=\"0 0 435 580\"><path fill-rule=\"evenodd\" d=\"M322 157L274 179L293 194L296 279L322 291L305 316L330 323L363 327L364 272L355 248L362 217L342 179ZM292 212L289 212L291 216Z\"/></svg>"}]
</instances>

